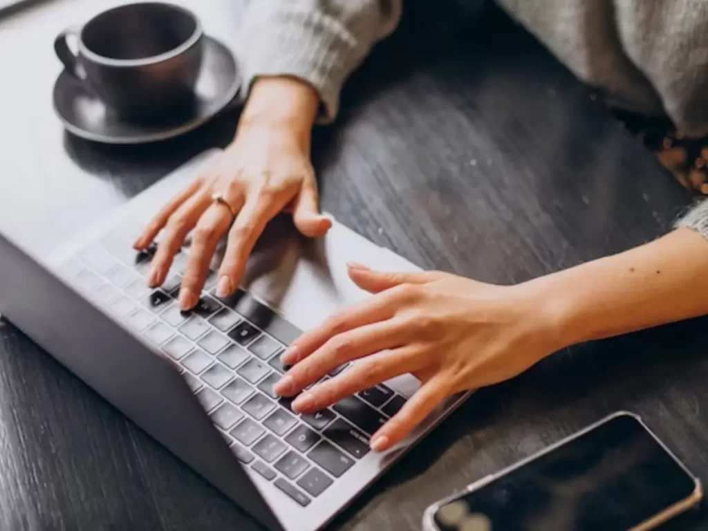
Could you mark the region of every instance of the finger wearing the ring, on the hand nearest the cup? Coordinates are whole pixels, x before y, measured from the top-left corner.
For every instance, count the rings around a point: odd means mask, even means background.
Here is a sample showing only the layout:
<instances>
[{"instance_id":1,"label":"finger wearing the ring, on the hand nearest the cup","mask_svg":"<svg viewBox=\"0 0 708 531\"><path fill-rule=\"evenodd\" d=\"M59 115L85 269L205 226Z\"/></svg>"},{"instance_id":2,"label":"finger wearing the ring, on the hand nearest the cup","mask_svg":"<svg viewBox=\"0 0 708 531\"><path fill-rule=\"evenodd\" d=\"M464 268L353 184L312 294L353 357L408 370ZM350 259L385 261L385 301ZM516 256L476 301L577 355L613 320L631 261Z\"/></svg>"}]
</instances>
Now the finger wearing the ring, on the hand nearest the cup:
<instances>
[{"instance_id":1,"label":"finger wearing the ring, on the hand nearest the cup","mask_svg":"<svg viewBox=\"0 0 708 531\"><path fill-rule=\"evenodd\" d=\"M179 304L183 311L192 309L199 302L217 244L229 230L231 222L232 214L229 209L215 202L212 202L200 217L195 227L189 261L179 292Z\"/></svg>"}]
</instances>

